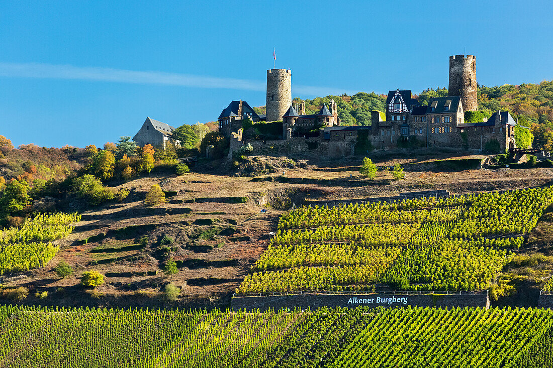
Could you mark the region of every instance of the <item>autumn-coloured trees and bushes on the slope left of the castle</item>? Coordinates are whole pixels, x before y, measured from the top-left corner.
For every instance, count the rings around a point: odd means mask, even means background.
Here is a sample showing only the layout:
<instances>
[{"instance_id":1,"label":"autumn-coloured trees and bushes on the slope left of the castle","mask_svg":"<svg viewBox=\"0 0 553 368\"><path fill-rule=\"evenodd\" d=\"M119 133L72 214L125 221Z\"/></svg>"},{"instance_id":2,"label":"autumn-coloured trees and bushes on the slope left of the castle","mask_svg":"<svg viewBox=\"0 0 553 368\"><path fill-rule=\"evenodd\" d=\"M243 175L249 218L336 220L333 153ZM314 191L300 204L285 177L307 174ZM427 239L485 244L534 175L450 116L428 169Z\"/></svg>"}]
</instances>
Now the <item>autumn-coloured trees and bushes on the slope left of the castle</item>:
<instances>
[{"instance_id":1,"label":"autumn-coloured trees and bushes on the slope left of the castle","mask_svg":"<svg viewBox=\"0 0 553 368\"><path fill-rule=\"evenodd\" d=\"M227 152L228 140L216 125L181 125L174 131L180 146L166 143L139 147L130 136L102 148L65 146L45 148L20 145L0 135L0 227L18 226L37 212L62 211L65 207L85 209L107 201L123 201L129 190L113 188L153 170L176 174L189 171L178 164L179 157L205 154L213 145L213 156Z\"/></svg>"}]
</instances>

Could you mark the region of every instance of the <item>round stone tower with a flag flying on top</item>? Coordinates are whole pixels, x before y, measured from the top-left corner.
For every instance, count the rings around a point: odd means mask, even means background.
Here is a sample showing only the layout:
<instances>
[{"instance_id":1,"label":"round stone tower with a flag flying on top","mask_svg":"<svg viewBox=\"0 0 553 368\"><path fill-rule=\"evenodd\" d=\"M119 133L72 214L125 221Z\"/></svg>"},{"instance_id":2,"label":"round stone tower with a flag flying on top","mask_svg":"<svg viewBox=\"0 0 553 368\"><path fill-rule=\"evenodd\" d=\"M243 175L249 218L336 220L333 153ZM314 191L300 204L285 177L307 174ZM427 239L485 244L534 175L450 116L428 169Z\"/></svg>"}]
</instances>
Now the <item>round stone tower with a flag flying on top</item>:
<instances>
[{"instance_id":1,"label":"round stone tower with a flag flying on top","mask_svg":"<svg viewBox=\"0 0 553 368\"><path fill-rule=\"evenodd\" d=\"M267 121L282 120L292 104L292 71L271 69L267 71Z\"/></svg>"}]
</instances>

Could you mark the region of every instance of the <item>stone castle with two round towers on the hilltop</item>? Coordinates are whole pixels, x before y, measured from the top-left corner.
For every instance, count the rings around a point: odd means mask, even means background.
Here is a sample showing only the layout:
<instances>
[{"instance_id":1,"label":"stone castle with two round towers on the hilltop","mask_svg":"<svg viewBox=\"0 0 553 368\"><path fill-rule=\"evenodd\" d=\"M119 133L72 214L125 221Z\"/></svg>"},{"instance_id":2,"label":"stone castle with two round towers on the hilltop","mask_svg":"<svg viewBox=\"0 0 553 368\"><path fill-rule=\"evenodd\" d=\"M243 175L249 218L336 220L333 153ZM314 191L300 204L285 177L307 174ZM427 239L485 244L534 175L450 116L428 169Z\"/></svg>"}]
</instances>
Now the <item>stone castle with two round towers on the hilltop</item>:
<instances>
[{"instance_id":1,"label":"stone castle with two round towers on the hilltop","mask_svg":"<svg viewBox=\"0 0 553 368\"><path fill-rule=\"evenodd\" d=\"M410 90L398 88L388 92L385 112L372 111L371 126L353 127L340 125L337 104L333 100L330 108L324 104L316 114L305 114L304 103L294 107L291 71L268 70L267 114L255 113L245 101L232 101L218 118L219 130L228 138L242 140L242 134L238 132L242 119L253 122L281 120L282 140L305 138L320 143L349 142L353 146L358 139L366 139L375 149L394 149L411 144L482 150L487 143L499 146L502 152L515 148L514 127L517 122L508 112L497 111L484 122L465 123L465 112L478 108L476 57L453 55L449 66L447 97L430 98L426 106L421 106ZM307 132L315 132L316 136ZM342 151L347 154L347 150Z\"/></svg>"}]
</instances>

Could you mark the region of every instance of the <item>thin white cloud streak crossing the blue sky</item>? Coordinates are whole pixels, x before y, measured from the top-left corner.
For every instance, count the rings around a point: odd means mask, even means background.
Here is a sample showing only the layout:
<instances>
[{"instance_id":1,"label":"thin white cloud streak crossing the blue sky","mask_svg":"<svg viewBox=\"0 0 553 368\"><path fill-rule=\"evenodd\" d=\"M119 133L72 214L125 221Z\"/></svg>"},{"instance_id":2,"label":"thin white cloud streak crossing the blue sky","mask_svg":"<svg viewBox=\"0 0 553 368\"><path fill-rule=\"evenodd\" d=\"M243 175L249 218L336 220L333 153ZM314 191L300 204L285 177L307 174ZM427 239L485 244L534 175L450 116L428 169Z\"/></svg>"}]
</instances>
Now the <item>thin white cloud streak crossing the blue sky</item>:
<instances>
[{"instance_id":1,"label":"thin white cloud streak crossing the blue sky","mask_svg":"<svg viewBox=\"0 0 553 368\"><path fill-rule=\"evenodd\" d=\"M161 71L133 71L104 67L80 67L41 63L0 62L0 77L51 78L118 83L171 85L195 88L229 88L232 90L265 91L264 81L217 78ZM326 96L352 93L338 88L292 85L294 94ZM354 92L353 92L354 93Z\"/></svg>"}]
</instances>

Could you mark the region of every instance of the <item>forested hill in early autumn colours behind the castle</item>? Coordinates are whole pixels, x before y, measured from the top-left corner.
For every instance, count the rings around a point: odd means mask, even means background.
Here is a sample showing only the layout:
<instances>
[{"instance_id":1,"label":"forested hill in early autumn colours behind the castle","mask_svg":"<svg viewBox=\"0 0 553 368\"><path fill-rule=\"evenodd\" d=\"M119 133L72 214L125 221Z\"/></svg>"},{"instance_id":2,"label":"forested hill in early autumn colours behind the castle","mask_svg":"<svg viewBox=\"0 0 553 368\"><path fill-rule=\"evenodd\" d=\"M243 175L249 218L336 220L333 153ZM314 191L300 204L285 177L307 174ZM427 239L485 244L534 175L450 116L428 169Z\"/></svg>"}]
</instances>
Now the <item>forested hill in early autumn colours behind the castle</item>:
<instances>
[{"instance_id":1,"label":"forested hill in early autumn colours behind the castle","mask_svg":"<svg viewBox=\"0 0 553 368\"><path fill-rule=\"evenodd\" d=\"M441 96L447 96L447 88L429 88L414 94L423 105L431 97ZM338 116L343 125L371 125L371 111L385 111L386 96L374 92L305 100L294 98L294 104L305 101L305 112L310 114L318 112L323 103L328 106L331 98L338 104ZM264 113L264 109L264 106L256 108L260 113ZM531 127L534 145L553 150L553 81L543 81L539 85L478 86L478 110L488 117L497 110L509 111L521 124Z\"/></svg>"}]
</instances>

